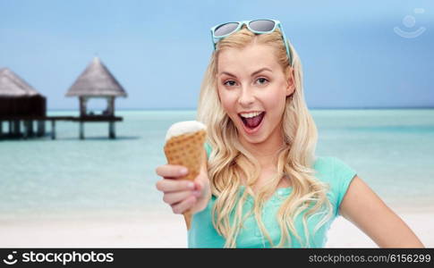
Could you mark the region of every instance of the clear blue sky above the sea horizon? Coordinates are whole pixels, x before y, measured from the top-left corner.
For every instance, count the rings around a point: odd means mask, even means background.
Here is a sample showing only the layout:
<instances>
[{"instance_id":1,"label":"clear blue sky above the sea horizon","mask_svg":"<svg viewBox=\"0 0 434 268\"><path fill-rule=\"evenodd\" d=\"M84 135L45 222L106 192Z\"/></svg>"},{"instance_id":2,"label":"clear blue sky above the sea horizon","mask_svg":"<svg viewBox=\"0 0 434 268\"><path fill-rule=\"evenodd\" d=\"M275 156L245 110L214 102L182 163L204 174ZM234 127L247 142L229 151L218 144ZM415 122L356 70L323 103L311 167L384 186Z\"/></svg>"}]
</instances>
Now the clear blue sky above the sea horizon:
<instances>
[{"instance_id":1,"label":"clear blue sky above the sea horizon","mask_svg":"<svg viewBox=\"0 0 434 268\"><path fill-rule=\"evenodd\" d=\"M0 0L0 68L64 96L94 56L128 96L117 109L195 109L226 21L282 21L310 108L434 107L434 1ZM103 106L92 100L89 107Z\"/></svg>"}]
</instances>

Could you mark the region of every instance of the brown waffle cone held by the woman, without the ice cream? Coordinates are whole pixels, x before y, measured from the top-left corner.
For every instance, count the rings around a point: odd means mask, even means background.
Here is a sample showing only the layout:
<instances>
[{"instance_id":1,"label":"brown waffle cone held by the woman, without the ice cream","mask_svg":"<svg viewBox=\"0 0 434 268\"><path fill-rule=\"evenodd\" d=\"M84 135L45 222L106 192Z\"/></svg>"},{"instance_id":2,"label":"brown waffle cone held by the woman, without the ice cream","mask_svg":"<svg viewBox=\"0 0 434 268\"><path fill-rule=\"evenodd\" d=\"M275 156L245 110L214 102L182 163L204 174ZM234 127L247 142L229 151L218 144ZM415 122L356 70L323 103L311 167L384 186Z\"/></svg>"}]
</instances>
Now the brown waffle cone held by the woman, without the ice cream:
<instances>
[{"instance_id":1,"label":"brown waffle cone held by the woman, without the ice cream","mask_svg":"<svg viewBox=\"0 0 434 268\"><path fill-rule=\"evenodd\" d=\"M165 145L165 155L169 164L183 165L189 173L182 180L194 180L200 173L203 163L203 143L207 132L199 130L169 138ZM191 210L183 213L187 230L191 228Z\"/></svg>"}]
</instances>

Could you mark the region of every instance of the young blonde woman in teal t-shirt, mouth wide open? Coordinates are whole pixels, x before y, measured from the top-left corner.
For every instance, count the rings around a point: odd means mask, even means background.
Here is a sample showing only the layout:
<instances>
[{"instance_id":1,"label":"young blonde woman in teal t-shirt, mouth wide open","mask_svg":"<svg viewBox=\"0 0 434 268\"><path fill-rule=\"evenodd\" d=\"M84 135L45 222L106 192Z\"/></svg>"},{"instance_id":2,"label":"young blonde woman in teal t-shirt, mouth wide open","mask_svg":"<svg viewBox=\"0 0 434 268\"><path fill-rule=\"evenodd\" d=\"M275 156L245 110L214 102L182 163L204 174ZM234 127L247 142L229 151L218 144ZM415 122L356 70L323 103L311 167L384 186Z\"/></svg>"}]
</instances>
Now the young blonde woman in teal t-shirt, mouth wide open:
<instances>
[{"instance_id":1,"label":"young blonde woman in teal t-shirt, mouth wide open","mask_svg":"<svg viewBox=\"0 0 434 268\"><path fill-rule=\"evenodd\" d=\"M189 247L324 247L339 214L379 247L423 247L350 166L315 156L302 64L280 22L229 22L211 33L198 107L208 161L194 182L174 180L183 166L156 170L164 202L193 212Z\"/></svg>"}]
</instances>

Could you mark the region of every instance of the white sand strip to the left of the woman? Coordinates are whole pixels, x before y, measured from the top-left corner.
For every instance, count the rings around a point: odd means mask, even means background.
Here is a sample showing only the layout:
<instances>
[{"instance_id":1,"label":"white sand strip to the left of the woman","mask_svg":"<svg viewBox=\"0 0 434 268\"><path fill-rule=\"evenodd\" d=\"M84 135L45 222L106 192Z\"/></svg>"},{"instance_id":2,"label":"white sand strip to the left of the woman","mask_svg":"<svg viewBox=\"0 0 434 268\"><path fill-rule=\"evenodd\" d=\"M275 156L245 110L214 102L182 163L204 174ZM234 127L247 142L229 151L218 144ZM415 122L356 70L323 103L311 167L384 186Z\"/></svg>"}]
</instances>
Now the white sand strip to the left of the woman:
<instances>
[{"instance_id":1,"label":"white sand strip to the left of the woman","mask_svg":"<svg viewBox=\"0 0 434 268\"><path fill-rule=\"evenodd\" d=\"M182 215L0 222L0 247L187 247Z\"/></svg>"}]
</instances>

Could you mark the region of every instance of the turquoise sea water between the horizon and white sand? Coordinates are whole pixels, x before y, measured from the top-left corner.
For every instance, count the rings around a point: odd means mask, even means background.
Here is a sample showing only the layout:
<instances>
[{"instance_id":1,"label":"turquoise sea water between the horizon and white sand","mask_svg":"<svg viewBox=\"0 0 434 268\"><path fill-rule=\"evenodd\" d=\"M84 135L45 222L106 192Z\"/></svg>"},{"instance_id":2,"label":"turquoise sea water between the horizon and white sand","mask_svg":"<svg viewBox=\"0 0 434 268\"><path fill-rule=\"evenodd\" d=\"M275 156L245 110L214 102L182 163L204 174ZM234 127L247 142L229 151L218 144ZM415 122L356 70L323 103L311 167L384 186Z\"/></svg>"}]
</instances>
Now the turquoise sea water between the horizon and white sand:
<instances>
[{"instance_id":1,"label":"turquoise sea water between the horizon and white sand","mask_svg":"<svg viewBox=\"0 0 434 268\"><path fill-rule=\"evenodd\" d=\"M311 110L317 155L355 169L389 205L434 205L434 110ZM154 212L167 128L195 111L118 111L115 140L106 123L59 121L57 139L0 141L0 220L72 213ZM76 115L53 111L49 115ZM6 125L4 124L4 130ZM51 130L47 124L47 131Z\"/></svg>"}]
</instances>

